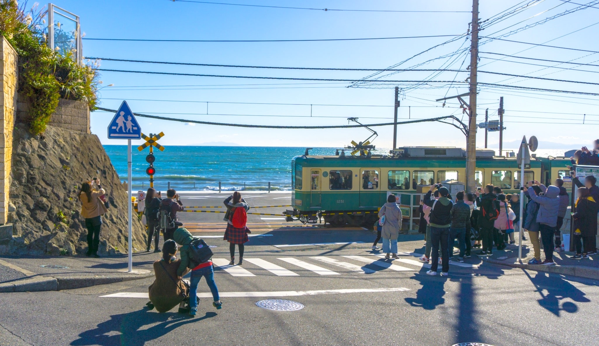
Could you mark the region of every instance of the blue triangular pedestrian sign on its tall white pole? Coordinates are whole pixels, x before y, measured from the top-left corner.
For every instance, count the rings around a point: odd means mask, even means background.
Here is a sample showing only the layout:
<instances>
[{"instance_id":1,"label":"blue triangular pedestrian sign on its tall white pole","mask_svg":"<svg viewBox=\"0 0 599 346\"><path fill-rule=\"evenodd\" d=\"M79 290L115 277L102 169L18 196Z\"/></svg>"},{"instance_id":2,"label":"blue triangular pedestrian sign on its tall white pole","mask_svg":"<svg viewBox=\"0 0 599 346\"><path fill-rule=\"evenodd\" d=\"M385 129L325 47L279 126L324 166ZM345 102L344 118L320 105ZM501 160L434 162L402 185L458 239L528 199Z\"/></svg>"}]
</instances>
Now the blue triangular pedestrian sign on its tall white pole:
<instances>
[{"instance_id":1,"label":"blue triangular pedestrian sign on its tall white pole","mask_svg":"<svg viewBox=\"0 0 599 346\"><path fill-rule=\"evenodd\" d=\"M108 138L109 139L127 139L127 192L128 192L128 201L127 201L127 213L128 213L128 242L129 242L129 270L128 272L133 271L133 220L132 220L132 209L131 205L132 199L132 190L131 190L131 139L140 139L141 138L141 127L137 120L135 120L135 116L129 108L127 101L123 101L120 105L119 110L114 114L113 119L110 124L108 124Z\"/></svg>"}]
</instances>

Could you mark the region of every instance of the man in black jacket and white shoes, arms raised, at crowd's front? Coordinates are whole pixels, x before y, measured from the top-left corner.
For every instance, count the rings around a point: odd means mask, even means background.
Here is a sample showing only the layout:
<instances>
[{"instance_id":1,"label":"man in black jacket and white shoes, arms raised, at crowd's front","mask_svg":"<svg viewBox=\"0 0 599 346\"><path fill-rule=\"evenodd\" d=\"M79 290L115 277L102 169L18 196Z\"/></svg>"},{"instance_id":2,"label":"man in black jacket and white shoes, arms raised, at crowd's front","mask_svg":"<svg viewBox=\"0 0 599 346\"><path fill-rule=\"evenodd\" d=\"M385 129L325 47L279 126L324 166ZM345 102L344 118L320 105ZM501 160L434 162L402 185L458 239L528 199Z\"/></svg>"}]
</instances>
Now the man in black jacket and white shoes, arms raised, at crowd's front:
<instances>
[{"instance_id":1,"label":"man in black jacket and white shoes, arms raised, at crowd's front","mask_svg":"<svg viewBox=\"0 0 599 346\"><path fill-rule=\"evenodd\" d=\"M441 187L441 184L434 184L424 196L424 204L431 207L429 217L431 225L432 239L432 262L431 270L426 272L428 275L437 275L439 242L441 243L441 276L447 276L449 272L449 253L447 252L447 241L449 239L449 226L451 225L451 210L453 202L447 198L449 190L447 187ZM438 188L441 197L437 200L431 199L432 191Z\"/></svg>"}]
</instances>

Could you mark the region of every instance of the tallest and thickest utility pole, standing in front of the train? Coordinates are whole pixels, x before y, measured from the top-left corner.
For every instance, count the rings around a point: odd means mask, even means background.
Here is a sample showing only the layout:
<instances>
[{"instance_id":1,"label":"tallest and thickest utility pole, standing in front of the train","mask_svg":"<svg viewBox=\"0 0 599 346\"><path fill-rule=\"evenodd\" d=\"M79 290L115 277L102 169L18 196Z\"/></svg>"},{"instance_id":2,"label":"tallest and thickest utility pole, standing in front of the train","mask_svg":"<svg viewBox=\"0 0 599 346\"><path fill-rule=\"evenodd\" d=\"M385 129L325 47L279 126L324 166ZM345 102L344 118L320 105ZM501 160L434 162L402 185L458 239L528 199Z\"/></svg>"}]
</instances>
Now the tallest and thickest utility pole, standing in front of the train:
<instances>
[{"instance_id":1,"label":"tallest and thickest utility pole, standing in front of the train","mask_svg":"<svg viewBox=\"0 0 599 346\"><path fill-rule=\"evenodd\" d=\"M472 1L472 35L470 43L470 123L466 143L466 191L476 190L476 69L479 57L479 0Z\"/></svg>"}]
</instances>

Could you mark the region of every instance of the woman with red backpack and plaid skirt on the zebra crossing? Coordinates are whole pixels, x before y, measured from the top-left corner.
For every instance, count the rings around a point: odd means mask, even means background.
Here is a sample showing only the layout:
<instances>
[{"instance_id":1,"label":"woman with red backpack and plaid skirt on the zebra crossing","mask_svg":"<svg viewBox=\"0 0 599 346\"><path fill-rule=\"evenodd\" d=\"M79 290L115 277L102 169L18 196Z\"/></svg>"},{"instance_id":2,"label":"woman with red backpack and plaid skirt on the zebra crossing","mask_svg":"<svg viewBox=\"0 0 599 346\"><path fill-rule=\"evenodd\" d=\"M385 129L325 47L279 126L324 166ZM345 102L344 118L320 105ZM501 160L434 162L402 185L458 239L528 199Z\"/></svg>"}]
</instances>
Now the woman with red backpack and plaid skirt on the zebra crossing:
<instances>
[{"instance_id":1,"label":"woman with red backpack and plaid skirt on the zebra crossing","mask_svg":"<svg viewBox=\"0 0 599 346\"><path fill-rule=\"evenodd\" d=\"M231 262L229 262L229 265L232 266L235 264L235 244L237 244L239 248L238 265L242 265L244 250L243 244L249 241L249 238L247 238L247 233L252 233L246 227L247 211L250 209L250 206L247 205L243 198L241 198L241 193L238 191L235 191L233 195L225 199L224 203L227 209L224 219L227 222L227 226L223 240L226 240L230 243L229 252L231 253Z\"/></svg>"}]
</instances>

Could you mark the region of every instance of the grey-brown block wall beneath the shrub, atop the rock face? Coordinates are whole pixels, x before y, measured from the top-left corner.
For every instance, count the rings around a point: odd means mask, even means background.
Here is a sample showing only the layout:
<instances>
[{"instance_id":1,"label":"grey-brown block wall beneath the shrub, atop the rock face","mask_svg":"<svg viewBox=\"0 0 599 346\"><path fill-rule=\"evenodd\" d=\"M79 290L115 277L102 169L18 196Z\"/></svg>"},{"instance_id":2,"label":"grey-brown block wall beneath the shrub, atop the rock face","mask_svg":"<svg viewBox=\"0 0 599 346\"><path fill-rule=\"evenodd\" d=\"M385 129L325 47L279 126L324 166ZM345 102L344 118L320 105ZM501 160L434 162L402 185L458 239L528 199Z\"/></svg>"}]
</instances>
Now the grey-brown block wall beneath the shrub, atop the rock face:
<instances>
[{"instance_id":1,"label":"grey-brown block wall beneath the shrub, atop the rock face","mask_svg":"<svg viewBox=\"0 0 599 346\"><path fill-rule=\"evenodd\" d=\"M17 102L17 122L26 123L31 119L29 116L29 99L19 94ZM52 114L50 126L71 130L71 132L90 133L89 108L83 101L59 99L58 107Z\"/></svg>"}]
</instances>

